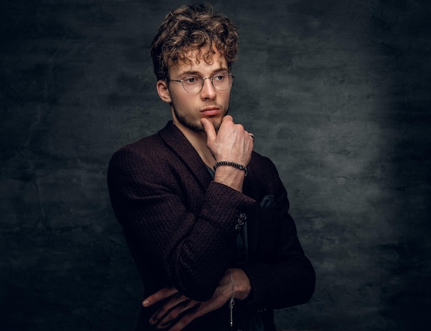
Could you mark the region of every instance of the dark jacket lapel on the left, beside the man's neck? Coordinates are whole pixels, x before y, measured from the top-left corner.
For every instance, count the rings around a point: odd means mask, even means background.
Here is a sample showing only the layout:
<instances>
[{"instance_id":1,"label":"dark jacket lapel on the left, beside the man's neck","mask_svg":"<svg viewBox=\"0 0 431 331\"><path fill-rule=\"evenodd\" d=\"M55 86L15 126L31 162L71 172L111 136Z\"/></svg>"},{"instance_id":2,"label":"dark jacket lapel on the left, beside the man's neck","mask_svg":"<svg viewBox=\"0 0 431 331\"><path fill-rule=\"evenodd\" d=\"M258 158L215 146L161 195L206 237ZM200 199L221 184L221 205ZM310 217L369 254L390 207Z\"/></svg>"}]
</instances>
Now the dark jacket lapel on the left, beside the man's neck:
<instances>
[{"instance_id":1,"label":"dark jacket lapel on the left, beside the man's neck","mask_svg":"<svg viewBox=\"0 0 431 331\"><path fill-rule=\"evenodd\" d=\"M182 134L180 129L172 121L169 121L158 134L167 146L187 165L202 188L207 190L209 183L212 181L211 174L207 169L207 165L205 165L198 152L193 148L185 135Z\"/></svg>"}]
</instances>

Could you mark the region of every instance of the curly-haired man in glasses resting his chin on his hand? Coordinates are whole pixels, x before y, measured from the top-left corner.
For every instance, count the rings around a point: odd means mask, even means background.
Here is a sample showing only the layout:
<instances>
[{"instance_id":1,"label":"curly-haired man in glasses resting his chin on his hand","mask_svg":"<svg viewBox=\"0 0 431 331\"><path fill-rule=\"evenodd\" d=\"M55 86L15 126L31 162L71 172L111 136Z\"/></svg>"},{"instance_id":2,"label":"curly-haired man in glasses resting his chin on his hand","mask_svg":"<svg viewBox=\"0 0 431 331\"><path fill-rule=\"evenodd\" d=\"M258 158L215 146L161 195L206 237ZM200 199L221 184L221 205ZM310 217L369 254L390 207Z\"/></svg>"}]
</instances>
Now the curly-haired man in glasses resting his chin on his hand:
<instances>
[{"instance_id":1,"label":"curly-haired man in glasses resting his chin on his hand","mask_svg":"<svg viewBox=\"0 0 431 331\"><path fill-rule=\"evenodd\" d=\"M233 23L206 6L169 12L151 45L172 121L108 169L147 296L136 330L274 331L274 309L314 292L275 165L227 115L237 50Z\"/></svg>"}]
</instances>

